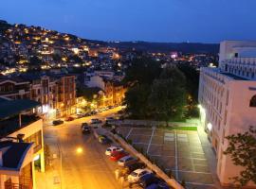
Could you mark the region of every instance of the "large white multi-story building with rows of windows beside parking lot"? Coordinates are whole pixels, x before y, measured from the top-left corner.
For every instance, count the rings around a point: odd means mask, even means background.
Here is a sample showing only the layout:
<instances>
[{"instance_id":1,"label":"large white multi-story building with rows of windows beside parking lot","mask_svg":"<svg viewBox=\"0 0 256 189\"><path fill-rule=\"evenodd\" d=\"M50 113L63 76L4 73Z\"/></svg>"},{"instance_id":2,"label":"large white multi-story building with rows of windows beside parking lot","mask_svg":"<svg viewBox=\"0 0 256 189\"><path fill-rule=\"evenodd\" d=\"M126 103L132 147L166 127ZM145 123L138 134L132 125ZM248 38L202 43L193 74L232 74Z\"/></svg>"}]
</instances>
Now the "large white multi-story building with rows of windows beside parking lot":
<instances>
[{"instance_id":1,"label":"large white multi-story building with rows of windows beside parking lot","mask_svg":"<svg viewBox=\"0 0 256 189\"><path fill-rule=\"evenodd\" d=\"M229 178L243 167L223 154L229 146L225 137L256 127L256 42L222 42L219 67L201 68L198 99L201 123L216 151L218 178L230 185Z\"/></svg>"}]
</instances>

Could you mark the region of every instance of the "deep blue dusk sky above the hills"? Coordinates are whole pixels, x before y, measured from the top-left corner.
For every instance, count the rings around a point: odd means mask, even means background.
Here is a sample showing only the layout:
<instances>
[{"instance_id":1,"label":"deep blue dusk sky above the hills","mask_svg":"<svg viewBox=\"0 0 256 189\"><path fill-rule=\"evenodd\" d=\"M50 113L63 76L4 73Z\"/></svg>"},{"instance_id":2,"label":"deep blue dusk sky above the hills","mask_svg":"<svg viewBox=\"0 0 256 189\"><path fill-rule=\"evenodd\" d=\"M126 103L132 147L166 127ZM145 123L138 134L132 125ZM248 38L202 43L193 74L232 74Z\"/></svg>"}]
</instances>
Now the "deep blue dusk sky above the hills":
<instances>
[{"instance_id":1,"label":"deep blue dusk sky above the hills","mask_svg":"<svg viewBox=\"0 0 256 189\"><path fill-rule=\"evenodd\" d=\"M256 0L1 0L0 19L104 41L256 40Z\"/></svg>"}]
</instances>

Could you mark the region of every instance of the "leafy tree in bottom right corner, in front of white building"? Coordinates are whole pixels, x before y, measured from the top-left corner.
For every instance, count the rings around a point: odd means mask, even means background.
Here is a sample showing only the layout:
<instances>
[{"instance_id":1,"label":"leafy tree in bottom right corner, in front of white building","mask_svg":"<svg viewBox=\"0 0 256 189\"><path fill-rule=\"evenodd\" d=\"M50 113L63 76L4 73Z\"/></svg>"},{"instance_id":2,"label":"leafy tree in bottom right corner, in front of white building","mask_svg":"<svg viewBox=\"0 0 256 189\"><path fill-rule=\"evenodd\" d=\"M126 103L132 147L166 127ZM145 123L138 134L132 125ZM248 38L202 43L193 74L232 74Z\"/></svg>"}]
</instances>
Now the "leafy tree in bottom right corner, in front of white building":
<instances>
[{"instance_id":1,"label":"leafy tree in bottom right corner, in front of white building","mask_svg":"<svg viewBox=\"0 0 256 189\"><path fill-rule=\"evenodd\" d=\"M256 129L250 127L245 133L226 138L229 146L224 154L229 155L235 165L244 167L239 176L230 179L241 186L247 185L248 181L256 183Z\"/></svg>"}]
</instances>

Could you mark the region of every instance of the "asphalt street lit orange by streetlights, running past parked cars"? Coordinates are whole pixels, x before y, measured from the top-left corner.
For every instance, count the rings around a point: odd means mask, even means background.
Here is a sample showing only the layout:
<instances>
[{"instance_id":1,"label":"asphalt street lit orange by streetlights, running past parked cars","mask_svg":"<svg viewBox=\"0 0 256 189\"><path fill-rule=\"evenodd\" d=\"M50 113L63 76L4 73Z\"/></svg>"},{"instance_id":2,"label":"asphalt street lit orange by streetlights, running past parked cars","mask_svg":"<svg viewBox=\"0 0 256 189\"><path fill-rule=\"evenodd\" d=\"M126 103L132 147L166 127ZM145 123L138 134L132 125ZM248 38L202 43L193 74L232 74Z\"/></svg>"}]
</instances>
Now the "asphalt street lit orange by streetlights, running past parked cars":
<instances>
[{"instance_id":1,"label":"asphalt street lit orange by streetlights, running past parked cars","mask_svg":"<svg viewBox=\"0 0 256 189\"><path fill-rule=\"evenodd\" d=\"M94 116L65 122L62 126L45 127L45 142L50 152L55 154L53 162L54 167L58 169L59 188L121 188L114 173L117 163L110 162L104 154L107 146L101 145L92 133L83 135L81 132L82 122L89 122L95 117L103 120L119 110L120 107ZM82 152L78 152L78 148L82 149ZM63 168L61 168L61 162Z\"/></svg>"}]
</instances>

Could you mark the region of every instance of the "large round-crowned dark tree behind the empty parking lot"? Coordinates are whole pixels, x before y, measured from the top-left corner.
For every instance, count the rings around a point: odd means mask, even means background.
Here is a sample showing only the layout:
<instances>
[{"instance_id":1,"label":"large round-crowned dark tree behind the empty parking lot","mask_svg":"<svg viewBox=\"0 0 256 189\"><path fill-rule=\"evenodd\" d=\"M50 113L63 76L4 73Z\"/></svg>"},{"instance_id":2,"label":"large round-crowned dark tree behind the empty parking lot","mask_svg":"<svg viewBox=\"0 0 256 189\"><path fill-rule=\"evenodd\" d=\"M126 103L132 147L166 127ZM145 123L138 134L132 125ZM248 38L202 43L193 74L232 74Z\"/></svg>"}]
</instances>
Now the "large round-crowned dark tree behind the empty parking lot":
<instances>
[{"instance_id":1,"label":"large round-crowned dark tree behind the empty parking lot","mask_svg":"<svg viewBox=\"0 0 256 189\"><path fill-rule=\"evenodd\" d=\"M186 79L175 67L163 69L160 77L155 79L149 104L156 118L169 121L170 118L180 119L186 105Z\"/></svg>"}]
</instances>

